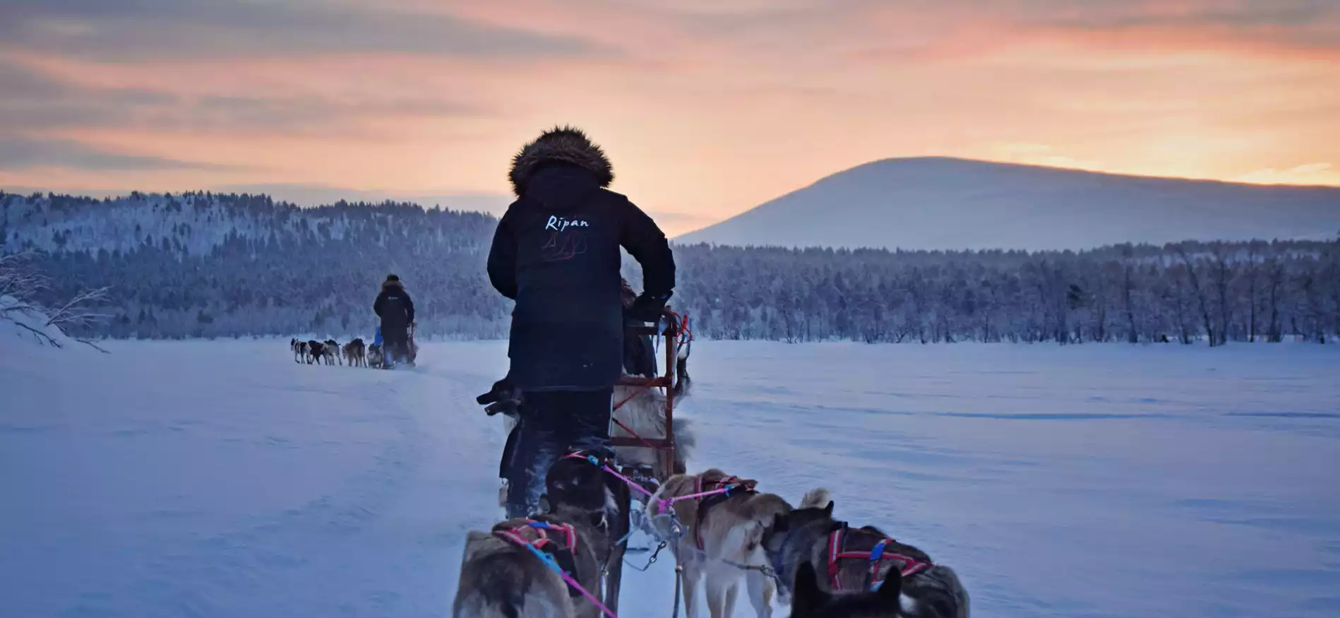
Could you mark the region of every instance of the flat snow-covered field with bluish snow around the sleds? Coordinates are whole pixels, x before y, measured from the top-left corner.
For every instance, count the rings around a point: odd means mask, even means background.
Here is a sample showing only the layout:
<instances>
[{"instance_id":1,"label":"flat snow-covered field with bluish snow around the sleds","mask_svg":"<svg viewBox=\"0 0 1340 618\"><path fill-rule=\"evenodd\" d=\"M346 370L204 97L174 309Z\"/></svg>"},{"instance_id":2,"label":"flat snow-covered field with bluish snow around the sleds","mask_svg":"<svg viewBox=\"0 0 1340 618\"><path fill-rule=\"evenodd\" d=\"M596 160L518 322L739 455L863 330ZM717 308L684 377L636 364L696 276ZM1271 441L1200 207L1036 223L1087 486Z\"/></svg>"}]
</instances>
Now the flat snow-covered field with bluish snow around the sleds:
<instances>
[{"instance_id":1,"label":"flat snow-covered field with bluish snow around the sleds","mask_svg":"<svg viewBox=\"0 0 1340 618\"><path fill-rule=\"evenodd\" d=\"M287 341L15 342L3 617L444 617L498 515L473 398L503 343L374 371ZM699 342L690 369L691 469L828 487L977 617L1340 615L1335 346ZM623 615L669 617L671 562L626 570Z\"/></svg>"}]
</instances>

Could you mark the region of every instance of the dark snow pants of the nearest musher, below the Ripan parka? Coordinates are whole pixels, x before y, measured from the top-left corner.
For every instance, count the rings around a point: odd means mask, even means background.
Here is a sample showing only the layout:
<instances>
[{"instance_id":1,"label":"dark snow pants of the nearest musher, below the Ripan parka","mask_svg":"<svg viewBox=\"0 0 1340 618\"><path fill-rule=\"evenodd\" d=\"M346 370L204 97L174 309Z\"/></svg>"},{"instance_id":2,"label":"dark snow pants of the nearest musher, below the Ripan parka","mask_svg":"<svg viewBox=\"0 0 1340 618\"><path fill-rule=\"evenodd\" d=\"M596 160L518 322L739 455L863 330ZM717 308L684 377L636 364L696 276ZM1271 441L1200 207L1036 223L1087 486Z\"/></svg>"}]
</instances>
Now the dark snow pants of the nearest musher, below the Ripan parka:
<instances>
[{"instance_id":1,"label":"dark snow pants of the nearest musher, below the Ripan parka","mask_svg":"<svg viewBox=\"0 0 1340 618\"><path fill-rule=\"evenodd\" d=\"M507 516L535 513L549 467L571 450L608 452L614 389L524 393L504 449Z\"/></svg>"}]
</instances>

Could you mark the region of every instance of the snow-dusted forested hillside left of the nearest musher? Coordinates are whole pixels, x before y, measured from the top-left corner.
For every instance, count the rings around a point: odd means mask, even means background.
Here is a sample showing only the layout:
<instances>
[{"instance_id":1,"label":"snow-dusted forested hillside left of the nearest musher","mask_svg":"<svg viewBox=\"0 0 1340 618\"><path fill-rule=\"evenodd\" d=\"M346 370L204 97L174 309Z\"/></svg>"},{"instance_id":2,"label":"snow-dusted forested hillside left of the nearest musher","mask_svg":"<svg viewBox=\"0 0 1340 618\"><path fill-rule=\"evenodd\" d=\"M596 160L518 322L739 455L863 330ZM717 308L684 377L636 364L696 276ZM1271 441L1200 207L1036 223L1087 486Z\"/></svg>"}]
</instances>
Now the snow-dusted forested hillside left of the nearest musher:
<instances>
[{"instance_id":1,"label":"snow-dusted forested hillside left of the nearest musher","mask_svg":"<svg viewBox=\"0 0 1340 618\"><path fill-rule=\"evenodd\" d=\"M410 204L297 208L265 196L0 194L0 252L35 251L46 294L109 286L90 336L367 336L387 273L422 336L505 338L484 261L496 220Z\"/></svg>"}]
</instances>

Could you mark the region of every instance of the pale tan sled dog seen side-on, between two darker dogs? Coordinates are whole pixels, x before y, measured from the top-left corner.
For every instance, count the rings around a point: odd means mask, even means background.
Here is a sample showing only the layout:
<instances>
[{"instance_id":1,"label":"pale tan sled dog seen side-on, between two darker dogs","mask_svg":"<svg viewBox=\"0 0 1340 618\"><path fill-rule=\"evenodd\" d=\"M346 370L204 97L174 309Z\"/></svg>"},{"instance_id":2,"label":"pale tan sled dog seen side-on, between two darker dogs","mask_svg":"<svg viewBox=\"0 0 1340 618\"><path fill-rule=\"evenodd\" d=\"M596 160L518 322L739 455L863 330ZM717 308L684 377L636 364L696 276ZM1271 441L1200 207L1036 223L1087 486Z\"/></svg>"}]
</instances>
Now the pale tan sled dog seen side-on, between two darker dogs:
<instances>
[{"instance_id":1,"label":"pale tan sled dog seen side-on, between two darker dogs","mask_svg":"<svg viewBox=\"0 0 1340 618\"><path fill-rule=\"evenodd\" d=\"M694 605L694 595L704 578L712 618L734 615L741 579L757 615L772 615L776 584L761 570L766 562L760 544L764 530L772 527L776 516L789 512L791 504L781 496L756 492L756 484L712 468L701 475L675 475L650 499L649 516L658 532L662 538L675 538L670 547L683 570L687 618L701 615ZM726 487L732 488L726 493L675 500ZM659 505L666 500L675 500L670 508L679 526L687 531L675 530L673 523L659 516ZM760 570L744 570L738 564L757 566Z\"/></svg>"}]
</instances>

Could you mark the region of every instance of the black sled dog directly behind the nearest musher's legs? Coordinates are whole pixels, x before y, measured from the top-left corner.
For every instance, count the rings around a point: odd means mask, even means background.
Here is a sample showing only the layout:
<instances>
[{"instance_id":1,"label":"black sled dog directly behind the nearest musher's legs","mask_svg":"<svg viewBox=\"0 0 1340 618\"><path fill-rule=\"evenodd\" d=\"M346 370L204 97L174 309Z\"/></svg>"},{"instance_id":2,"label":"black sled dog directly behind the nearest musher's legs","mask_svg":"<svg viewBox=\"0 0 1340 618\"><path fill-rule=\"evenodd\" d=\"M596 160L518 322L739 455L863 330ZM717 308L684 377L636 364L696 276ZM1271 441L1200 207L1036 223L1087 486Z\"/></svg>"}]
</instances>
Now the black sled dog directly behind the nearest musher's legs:
<instances>
[{"instance_id":1,"label":"black sled dog directly behind the nearest musher's legs","mask_svg":"<svg viewBox=\"0 0 1340 618\"><path fill-rule=\"evenodd\" d=\"M627 543L619 540L628 534L631 496L628 485L604 467L614 467L608 453L570 453L559 458L544 477L545 493L540 504L541 509L565 521L591 526L587 542L603 574L603 601L618 614L627 550ZM599 587L587 590L596 594Z\"/></svg>"}]
</instances>

